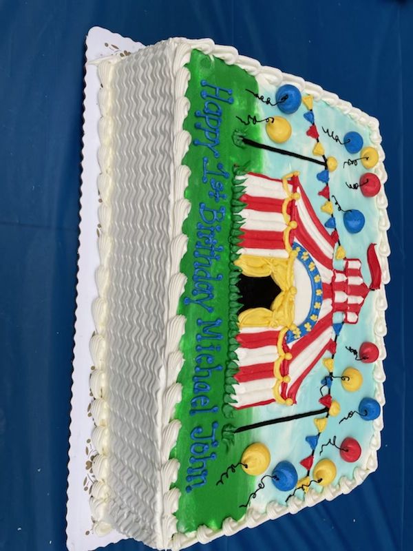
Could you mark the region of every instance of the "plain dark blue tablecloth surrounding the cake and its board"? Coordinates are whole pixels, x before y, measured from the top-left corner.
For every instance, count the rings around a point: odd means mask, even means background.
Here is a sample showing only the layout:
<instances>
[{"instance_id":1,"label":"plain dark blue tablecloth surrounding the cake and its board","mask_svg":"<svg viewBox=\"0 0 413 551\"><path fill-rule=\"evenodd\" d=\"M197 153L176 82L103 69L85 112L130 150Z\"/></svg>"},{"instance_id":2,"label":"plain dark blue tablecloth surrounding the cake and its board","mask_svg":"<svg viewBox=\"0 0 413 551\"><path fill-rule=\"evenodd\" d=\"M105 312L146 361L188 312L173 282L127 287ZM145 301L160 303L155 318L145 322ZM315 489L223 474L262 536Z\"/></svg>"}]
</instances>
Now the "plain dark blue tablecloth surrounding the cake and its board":
<instances>
[{"instance_id":1,"label":"plain dark blue tablecloth surrounding the cake and its board","mask_svg":"<svg viewBox=\"0 0 413 551\"><path fill-rule=\"evenodd\" d=\"M379 470L197 550L407 550L412 521L413 6L403 0L0 1L0 549L65 550L84 39L211 37L379 118L392 222ZM125 541L108 551L142 550ZM195 549L194 548L194 549Z\"/></svg>"}]
</instances>

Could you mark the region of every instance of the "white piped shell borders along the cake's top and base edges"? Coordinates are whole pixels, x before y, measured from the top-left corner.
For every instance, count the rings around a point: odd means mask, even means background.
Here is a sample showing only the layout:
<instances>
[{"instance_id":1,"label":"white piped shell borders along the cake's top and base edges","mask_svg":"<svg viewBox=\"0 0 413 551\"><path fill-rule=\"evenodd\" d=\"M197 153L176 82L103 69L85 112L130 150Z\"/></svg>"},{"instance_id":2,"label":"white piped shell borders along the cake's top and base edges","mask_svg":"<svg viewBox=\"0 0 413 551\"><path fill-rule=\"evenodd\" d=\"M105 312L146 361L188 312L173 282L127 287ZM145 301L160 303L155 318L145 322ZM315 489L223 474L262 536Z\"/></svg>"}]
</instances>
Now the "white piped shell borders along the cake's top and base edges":
<instances>
[{"instance_id":1,"label":"white piped shell borders along the cake's top and base edges","mask_svg":"<svg viewBox=\"0 0 413 551\"><path fill-rule=\"evenodd\" d=\"M180 338L184 332L184 317L176 315L178 301L182 294L182 288L185 282L185 276L179 271L179 264L187 247L187 238L182 233L182 224L187 217L189 204L184 199L184 189L187 187L189 179L189 168L182 165L191 136L182 129L184 120L189 111L189 100L185 97L187 84L189 81L189 70L184 65L189 61L193 49L200 50L204 54L215 56L222 59L228 65L237 65L244 69L248 74L255 76L261 85L279 86L283 83L294 84L301 92L312 94L315 101L325 101L328 105L337 107L343 113L351 116L354 121L359 122L370 129L370 138L379 152L379 163L374 169L375 174L384 184L387 180L387 174L383 165L384 152L381 148L381 136L379 134L379 122L376 118L368 116L361 110L352 107L347 101L339 99L337 94L324 91L319 85L308 83L298 76L282 73L273 67L265 67L254 59L246 56L240 56L231 46L215 45L210 39L187 40L187 39L169 39L169 43L174 46L172 76L175 77L175 121L173 136L173 178L171 182L171 225L170 225L170 279L169 279L169 306L167 308L167 343L165 348L165 362L163 373L160 374L162 388L158 395L158 427L160 428L160 450L162 466L160 468L161 492L158 496L157 510L160 512L159 523L160 532L158 536L159 548L171 548L173 551L186 548L189 545L199 541L207 543L222 535L231 536L243 528L254 528L261 523L276 519L290 512L295 514L306 506L313 506L324 499L328 501L338 495L346 494L353 488L361 484L364 479L377 469L377 450L381 446L381 429L383 428L383 413L373 422L374 434L370 440L370 455L366 461L366 468L356 468L352 480L347 477L341 477L337 486L327 486L321 492L310 489L304 500L294 497L288 501L288 506L282 506L277 502L268 503L266 512L257 512L253 507L249 508L240 521L234 521L227 518L222 523L222 528L213 530L207 526L199 526L195 532L184 534L177 532L177 519L174 515L178 509L180 491L178 488L171 488L171 484L176 482L179 469L177 459L169 459L171 450L176 445L180 422L173 419L173 412L176 404L180 402L182 388L176 382L180 368L182 367L183 357L179 349ZM105 60L107 61L107 60ZM113 59L111 63L100 65L109 67L108 74L103 74L103 78L110 78L110 67L112 63L120 62L120 59ZM100 67L99 67L100 68ZM106 94L106 95L105 95ZM109 96L107 91L101 90L99 104L102 114L108 105ZM94 302L94 320L96 324L96 334L93 335L90 342L90 350L95 362L95 370L92 373L90 386L95 401L92 405L92 415L96 427L92 433L92 441L98 455L93 461L94 475L96 481L92 486L92 497L90 499L92 518L94 519L94 532L96 534L107 534L112 526L107 522L107 496L108 489L105 486L105 477L107 476L107 444L109 430L107 428L107 404L105 404L105 372L104 355L105 340L99 333L105 320L105 289L107 286L106 262L110 254L110 238L107 235L107 229L110 224L110 207L108 199L110 194L110 178L108 176L107 149L105 147L106 139L109 138L110 123L102 123L99 128L100 150L99 163L102 174L99 178L99 190L102 198L102 205L99 209L99 220L102 231L98 239L100 251L100 268L96 274L96 283L98 286L98 298ZM379 360L374 367L374 380L376 389L374 397L381 406L385 403L383 392L383 382L385 375L383 371L383 360L385 358L384 336L386 334L385 309L387 302L385 298L384 284L390 280L388 269L388 256L390 247L388 244L387 231L390 222L387 216L387 198L383 185L377 197L375 198L377 209L379 211L379 231L380 242L377 244L379 262L383 273L383 284L381 289L375 291L375 309L376 318L374 321L374 333L376 335L376 344L379 347ZM158 435L159 436L159 435Z\"/></svg>"}]
</instances>

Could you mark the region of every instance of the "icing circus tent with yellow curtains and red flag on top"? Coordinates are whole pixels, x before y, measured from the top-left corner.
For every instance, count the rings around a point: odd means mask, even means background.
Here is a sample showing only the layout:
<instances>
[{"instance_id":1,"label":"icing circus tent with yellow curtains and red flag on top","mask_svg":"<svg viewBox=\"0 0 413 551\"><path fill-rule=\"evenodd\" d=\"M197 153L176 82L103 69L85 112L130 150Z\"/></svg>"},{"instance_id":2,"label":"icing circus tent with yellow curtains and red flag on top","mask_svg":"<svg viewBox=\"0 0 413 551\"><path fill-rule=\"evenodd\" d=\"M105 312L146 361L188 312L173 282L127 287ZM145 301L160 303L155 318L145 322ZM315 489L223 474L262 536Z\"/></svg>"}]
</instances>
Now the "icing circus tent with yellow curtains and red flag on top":
<instances>
[{"instance_id":1,"label":"icing circus tent with yellow curtains and red flag on top","mask_svg":"<svg viewBox=\"0 0 413 551\"><path fill-rule=\"evenodd\" d=\"M370 285L359 259L344 258L343 269L334 267L337 230L328 233L321 223L297 172L281 179L252 173L238 178L246 207L236 264L246 277L271 276L280 292L268 307L239 315L233 406L292 405L315 364L335 353L341 324L357 323L370 289L380 285L379 263L370 245Z\"/></svg>"}]
</instances>

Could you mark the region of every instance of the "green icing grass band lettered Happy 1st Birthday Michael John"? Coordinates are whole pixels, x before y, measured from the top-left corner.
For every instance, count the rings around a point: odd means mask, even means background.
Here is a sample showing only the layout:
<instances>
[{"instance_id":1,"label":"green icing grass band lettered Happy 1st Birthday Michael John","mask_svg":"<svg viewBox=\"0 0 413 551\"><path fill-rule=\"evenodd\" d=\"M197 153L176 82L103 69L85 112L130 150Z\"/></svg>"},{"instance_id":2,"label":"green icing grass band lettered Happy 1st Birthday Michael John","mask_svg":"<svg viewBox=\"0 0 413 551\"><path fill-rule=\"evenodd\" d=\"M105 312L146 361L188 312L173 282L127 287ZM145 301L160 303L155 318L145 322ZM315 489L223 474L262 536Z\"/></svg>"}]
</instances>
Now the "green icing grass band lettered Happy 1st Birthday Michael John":
<instances>
[{"instance_id":1,"label":"green icing grass band lettered Happy 1st Birthday Michael John","mask_svg":"<svg viewBox=\"0 0 413 551\"><path fill-rule=\"evenodd\" d=\"M251 444L251 437L240 433L234 438L231 430L252 420L250 409L231 406L240 307L239 269L233 262L238 257L242 221L238 213L243 207L242 180L235 183L233 178L246 165L251 171L262 169L262 153L236 147L232 138L242 125L237 114L255 110L254 96L245 94L246 89L258 92L253 76L198 50L193 50L187 68L191 107L184 129L193 140L182 163L191 169L185 193L191 210L182 229L188 236L181 262L187 284L178 309L186 318L180 344L184 364L178 376L182 401L176 407L182 428L171 453L180 461L176 481L180 532L200 525L219 529L227 517L239 520L245 513L240 503L255 484L255 477L246 476L241 468L229 472L224 484L217 482ZM260 138L258 127L250 132L252 138Z\"/></svg>"}]
</instances>

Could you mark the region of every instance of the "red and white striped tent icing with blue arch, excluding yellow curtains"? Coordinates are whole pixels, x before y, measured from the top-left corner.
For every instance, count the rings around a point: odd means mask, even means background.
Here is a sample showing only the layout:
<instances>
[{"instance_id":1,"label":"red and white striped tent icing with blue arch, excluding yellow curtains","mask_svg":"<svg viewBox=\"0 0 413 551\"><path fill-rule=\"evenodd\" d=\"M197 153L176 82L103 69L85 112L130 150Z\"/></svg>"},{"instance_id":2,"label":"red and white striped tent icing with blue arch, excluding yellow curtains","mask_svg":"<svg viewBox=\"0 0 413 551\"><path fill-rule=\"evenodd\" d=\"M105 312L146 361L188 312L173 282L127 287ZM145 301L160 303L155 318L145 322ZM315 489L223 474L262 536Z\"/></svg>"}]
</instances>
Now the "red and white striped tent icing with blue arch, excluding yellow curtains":
<instances>
[{"instance_id":1,"label":"red and white striped tent icing with blue arch, excluding yellow curtains","mask_svg":"<svg viewBox=\"0 0 413 551\"><path fill-rule=\"evenodd\" d=\"M306 375L326 353L335 352L333 314L341 312L341 322L356 323L370 289L363 281L360 260L344 259L343 270L333 267L337 231L328 233L315 214L297 174L288 178L287 187L285 182L283 186L282 180L262 174L248 173L243 178L245 192L241 200L246 207L241 212L244 218L241 258L242 255L288 258L284 231L288 220L297 222L288 230L290 246L298 251L293 263L297 289L296 329L288 331L284 337L284 359L279 366L282 375L279 401L293 404ZM285 216L286 191L290 197L294 194L296 198L288 201L288 216ZM374 247L370 247L370 257L375 256ZM274 365L279 357L277 340L281 330L282 327L262 326L240 329L237 335L240 371L235 375L238 384L233 395L235 408L275 401Z\"/></svg>"}]
</instances>

